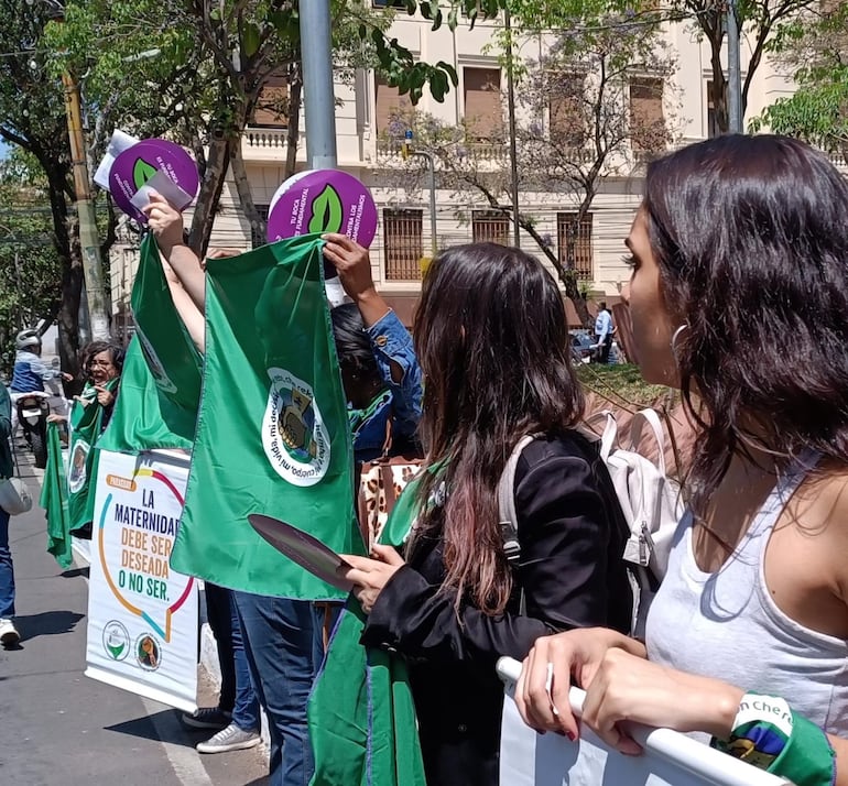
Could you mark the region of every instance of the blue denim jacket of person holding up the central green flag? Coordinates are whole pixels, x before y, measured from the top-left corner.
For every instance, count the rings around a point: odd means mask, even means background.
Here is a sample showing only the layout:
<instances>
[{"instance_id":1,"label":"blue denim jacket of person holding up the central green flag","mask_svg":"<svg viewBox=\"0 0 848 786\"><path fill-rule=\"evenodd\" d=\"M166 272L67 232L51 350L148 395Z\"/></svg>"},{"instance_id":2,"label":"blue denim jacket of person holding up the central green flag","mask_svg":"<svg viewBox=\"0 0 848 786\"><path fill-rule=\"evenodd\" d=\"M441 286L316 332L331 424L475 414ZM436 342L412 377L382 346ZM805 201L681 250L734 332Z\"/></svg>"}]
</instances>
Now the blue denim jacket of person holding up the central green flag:
<instances>
[{"instance_id":1,"label":"blue denim jacket of person holding up the central green flag","mask_svg":"<svg viewBox=\"0 0 848 786\"><path fill-rule=\"evenodd\" d=\"M371 340L380 376L387 392L374 403L373 411L354 427L354 456L357 463L372 461L382 455L387 422L392 418L392 452L414 444L415 428L421 417L423 386L421 367L412 347L412 336L394 312L389 312L366 328ZM390 361L403 370L400 382L392 380ZM352 411L351 411L352 414Z\"/></svg>"}]
</instances>

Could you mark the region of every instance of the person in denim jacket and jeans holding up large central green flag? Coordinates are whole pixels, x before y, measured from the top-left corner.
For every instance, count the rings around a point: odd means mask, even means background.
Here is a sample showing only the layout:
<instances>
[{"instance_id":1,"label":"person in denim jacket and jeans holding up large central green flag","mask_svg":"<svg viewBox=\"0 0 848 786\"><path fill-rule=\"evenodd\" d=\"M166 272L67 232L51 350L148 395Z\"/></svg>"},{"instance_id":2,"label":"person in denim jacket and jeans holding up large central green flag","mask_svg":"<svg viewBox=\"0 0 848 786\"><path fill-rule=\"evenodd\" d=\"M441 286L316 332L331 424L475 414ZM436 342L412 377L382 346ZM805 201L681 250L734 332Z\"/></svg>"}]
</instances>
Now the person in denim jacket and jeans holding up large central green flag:
<instances>
[{"instance_id":1,"label":"person in denim jacket and jeans holding up large central green flag","mask_svg":"<svg viewBox=\"0 0 848 786\"><path fill-rule=\"evenodd\" d=\"M197 258L183 243L180 214L157 195L151 196L146 212L163 256L197 308L206 310L204 275ZM347 419L355 432L354 458L369 460L380 455L390 421L399 445L413 438L421 413L421 371L409 332L373 286L367 250L344 236L327 236L326 241L325 258L338 269L341 284L356 304L330 318L348 401ZM352 483L347 493L351 492ZM352 506L352 495L350 503ZM250 572L256 566L246 564L242 569ZM306 601L244 591L236 592L236 599L251 674L269 714L271 784L301 786L314 767L306 700L315 661L323 654L319 625L314 624L312 604ZM316 642L318 646L314 646Z\"/></svg>"}]
</instances>

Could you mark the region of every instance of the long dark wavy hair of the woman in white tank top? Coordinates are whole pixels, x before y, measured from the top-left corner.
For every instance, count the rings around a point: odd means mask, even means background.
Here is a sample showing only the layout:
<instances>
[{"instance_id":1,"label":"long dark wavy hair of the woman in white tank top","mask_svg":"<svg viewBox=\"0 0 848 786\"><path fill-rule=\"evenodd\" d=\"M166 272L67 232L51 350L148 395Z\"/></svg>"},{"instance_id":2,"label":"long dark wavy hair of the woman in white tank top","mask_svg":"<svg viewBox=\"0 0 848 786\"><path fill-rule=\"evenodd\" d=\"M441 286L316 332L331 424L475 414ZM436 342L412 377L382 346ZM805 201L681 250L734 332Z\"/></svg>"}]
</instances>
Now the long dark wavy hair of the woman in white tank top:
<instances>
[{"instance_id":1,"label":"long dark wavy hair of the woman in white tank top","mask_svg":"<svg viewBox=\"0 0 848 786\"><path fill-rule=\"evenodd\" d=\"M727 135L648 167L643 203L702 434L689 503L706 515L735 454L848 460L848 184L785 137Z\"/></svg>"}]
</instances>

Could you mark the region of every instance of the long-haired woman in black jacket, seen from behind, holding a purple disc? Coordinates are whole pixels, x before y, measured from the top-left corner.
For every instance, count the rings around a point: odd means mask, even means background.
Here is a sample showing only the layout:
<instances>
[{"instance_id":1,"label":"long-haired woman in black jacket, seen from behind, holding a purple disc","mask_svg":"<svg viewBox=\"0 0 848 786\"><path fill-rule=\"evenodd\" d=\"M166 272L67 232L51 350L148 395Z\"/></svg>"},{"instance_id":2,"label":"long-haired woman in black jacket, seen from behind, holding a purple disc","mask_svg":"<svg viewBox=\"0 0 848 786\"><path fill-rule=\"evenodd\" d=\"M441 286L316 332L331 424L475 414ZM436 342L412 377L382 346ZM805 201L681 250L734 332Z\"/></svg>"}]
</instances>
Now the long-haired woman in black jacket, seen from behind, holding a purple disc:
<instances>
[{"instance_id":1,"label":"long-haired woman in black jacket, seen from behind, holding a purple disc","mask_svg":"<svg viewBox=\"0 0 848 786\"><path fill-rule=\"evenodd\" d=\"M378 546L373 559L348 557L347 578L369 612L362 643L409 662L427 782L494 786L497 659L523 658L551 631L629 631L627 527L606 467L574 430L584 400L563 299L537 260L491 243L437 255L414 336L428 471L412 492L405 561ZM515 472L513 569L497 491L528 434L541 436Z\"/></svg>"}]
</instances>

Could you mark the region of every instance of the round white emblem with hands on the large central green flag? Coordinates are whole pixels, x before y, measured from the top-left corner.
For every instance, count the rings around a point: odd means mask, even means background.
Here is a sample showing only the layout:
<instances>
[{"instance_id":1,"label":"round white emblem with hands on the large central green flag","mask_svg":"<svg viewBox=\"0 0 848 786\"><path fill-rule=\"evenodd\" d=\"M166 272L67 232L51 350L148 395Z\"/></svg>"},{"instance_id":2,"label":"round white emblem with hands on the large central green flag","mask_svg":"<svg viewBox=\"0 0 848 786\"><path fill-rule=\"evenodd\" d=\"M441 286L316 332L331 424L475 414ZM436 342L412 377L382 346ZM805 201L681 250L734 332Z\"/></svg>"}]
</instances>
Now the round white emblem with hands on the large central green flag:
<instances>
[{"instance_id":1,"label":"round white emblem with hands on the large central green flag","mask_svg":"<svg viewBox=\"0 0 848 786\"><path fill-rule=\"evenodd\" d=\"M269 369L262 447L274 471L293 485L315 485L329 467L329 435L312 387L285 369Z\"/></svg>"}]
</instances>

